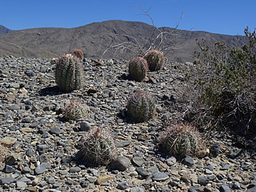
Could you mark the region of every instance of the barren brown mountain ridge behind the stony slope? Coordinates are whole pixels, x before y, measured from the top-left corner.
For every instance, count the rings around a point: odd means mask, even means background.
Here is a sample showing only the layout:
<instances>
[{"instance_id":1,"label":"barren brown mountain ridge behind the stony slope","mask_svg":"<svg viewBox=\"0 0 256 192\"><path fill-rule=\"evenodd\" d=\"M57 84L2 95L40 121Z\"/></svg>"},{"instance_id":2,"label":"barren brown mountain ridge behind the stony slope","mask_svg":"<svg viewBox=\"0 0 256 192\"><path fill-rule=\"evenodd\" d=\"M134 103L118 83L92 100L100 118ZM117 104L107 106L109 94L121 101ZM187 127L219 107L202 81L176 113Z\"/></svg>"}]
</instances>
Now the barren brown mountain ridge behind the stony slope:
<instances>
[{"instance_id":1,"label":"barren brown mountain ridge behind the stony slope","mask_svg":"<svg viewBox=\"0 0 256 192\"><path fill-rule=\"evenodd\" d=\"M0 36L0 55L15 55L34 58L51 58L82 49L87 58L100 58L110 46L122 42L140 45L152 34L152 26L137 21L103 21L90 23L77 28L31 28L11 31ZM174 28L159 28L166 36L164 46L171 46L172 51L166 51L169 60L186 62L193 60L194 50L197 50L196 39L205 39L208 43L225 41L229 46L241 46L245 43L243 36L227 36L204 31L183 31ZM174 32L173 32L174 31ZM123 36L123 35L126 36ZM159 34L154 30L154 36ZM136 41L134 41L136 39ZM146 39L146 40L145 40ZM117 52L118 53L118 52ZM119 58L130 58L134 53L127 52L117 55ZM104 58L113 58L114 50L105 53Z\"/></svg>"}]
</instances>

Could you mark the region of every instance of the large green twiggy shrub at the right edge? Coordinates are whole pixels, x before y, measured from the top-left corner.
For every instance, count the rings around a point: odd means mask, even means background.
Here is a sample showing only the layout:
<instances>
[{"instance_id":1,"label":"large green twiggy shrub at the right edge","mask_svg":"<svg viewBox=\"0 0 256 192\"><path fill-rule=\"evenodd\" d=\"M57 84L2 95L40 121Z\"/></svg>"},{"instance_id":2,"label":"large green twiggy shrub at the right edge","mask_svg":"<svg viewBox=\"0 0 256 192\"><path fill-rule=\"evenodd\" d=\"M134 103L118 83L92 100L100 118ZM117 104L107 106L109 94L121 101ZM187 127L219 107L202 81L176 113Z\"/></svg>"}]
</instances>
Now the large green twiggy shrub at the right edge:
<instances>
[{"instance_id":1,"label":"large green twiggy shrub at the right edge","mask_svg":"<svg viewBox=\"0 0 256 192\"><path fill-rule=\"evenodd\" d=\"M197 41L193 122L200 126L229 129L245 134L256 127L255 31L245 28L248 43L228 48L225 42L213 48ZM198 62L199 61L199 62ZM191 117L191 115L188 115Z\"/></svg>"}]
</instances>

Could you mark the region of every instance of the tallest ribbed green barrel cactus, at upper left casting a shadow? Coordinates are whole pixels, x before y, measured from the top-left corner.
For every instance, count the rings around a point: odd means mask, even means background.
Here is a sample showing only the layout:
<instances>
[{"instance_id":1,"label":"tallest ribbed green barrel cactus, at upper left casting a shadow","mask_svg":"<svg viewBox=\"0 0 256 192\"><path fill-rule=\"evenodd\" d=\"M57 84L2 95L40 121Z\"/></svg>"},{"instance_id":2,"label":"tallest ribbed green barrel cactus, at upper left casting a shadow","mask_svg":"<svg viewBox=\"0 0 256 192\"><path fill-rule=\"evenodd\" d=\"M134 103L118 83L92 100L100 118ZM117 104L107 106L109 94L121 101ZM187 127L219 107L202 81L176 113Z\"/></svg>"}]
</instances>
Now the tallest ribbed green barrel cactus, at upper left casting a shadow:
<instances>
[{"instance_id":1,"label":"tallest ribbed green barrel cactus, at upper left casting a shadow","mask_svg":"<svg viewBox=\"0 0 256 192\"><path fill-rule=\"evenodd\" d=\"M55 60L55 81L63 92L80 90L84 73L79 58L73 54L63 54Z\"/></svg>"}]
</instances>

